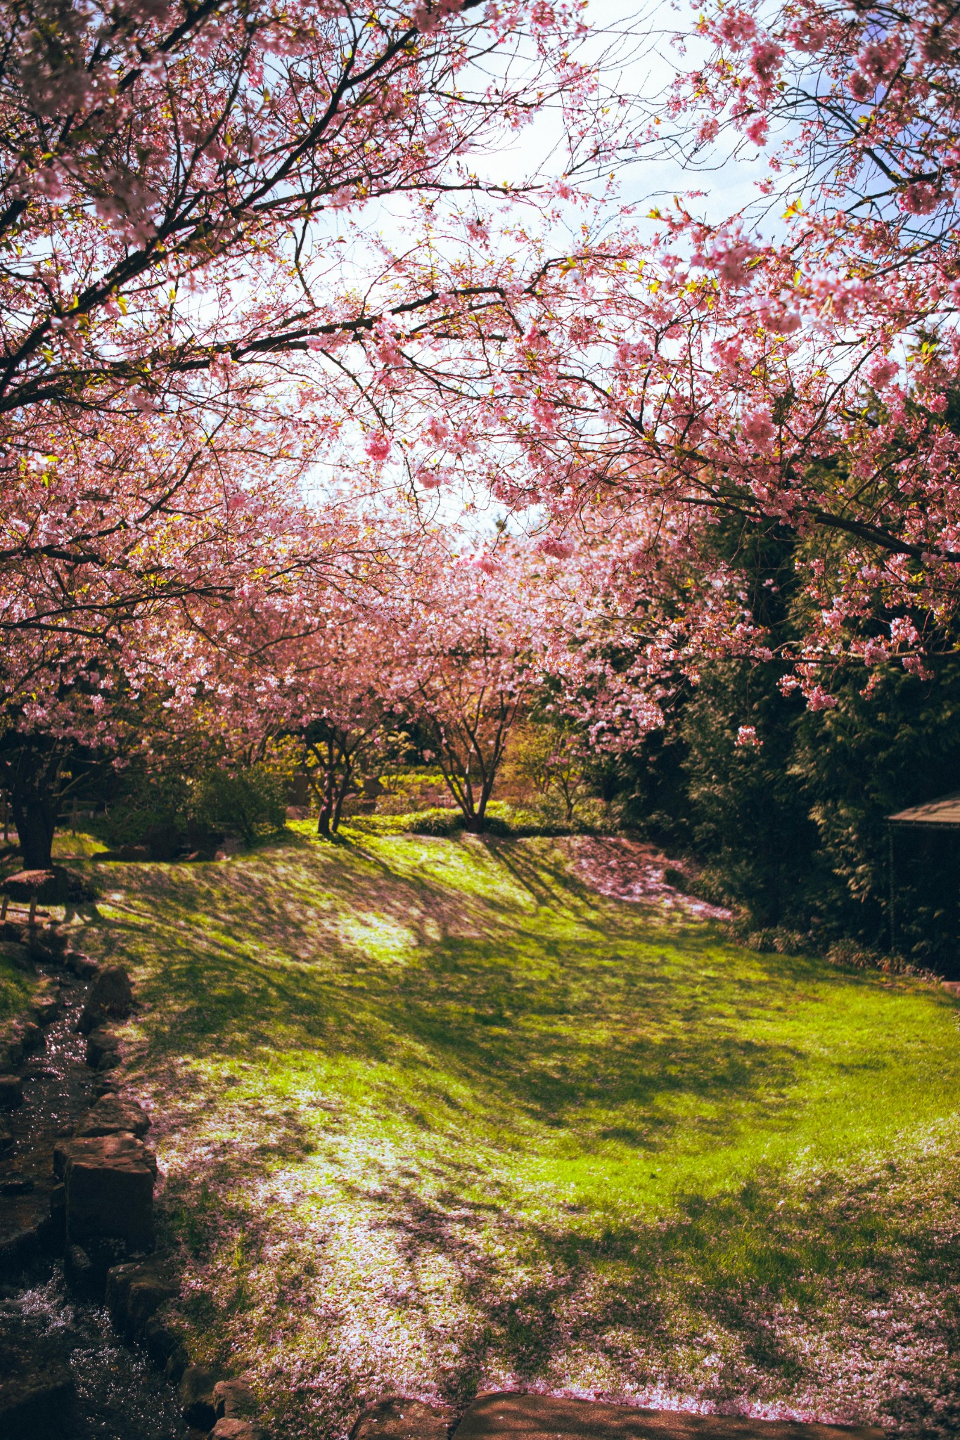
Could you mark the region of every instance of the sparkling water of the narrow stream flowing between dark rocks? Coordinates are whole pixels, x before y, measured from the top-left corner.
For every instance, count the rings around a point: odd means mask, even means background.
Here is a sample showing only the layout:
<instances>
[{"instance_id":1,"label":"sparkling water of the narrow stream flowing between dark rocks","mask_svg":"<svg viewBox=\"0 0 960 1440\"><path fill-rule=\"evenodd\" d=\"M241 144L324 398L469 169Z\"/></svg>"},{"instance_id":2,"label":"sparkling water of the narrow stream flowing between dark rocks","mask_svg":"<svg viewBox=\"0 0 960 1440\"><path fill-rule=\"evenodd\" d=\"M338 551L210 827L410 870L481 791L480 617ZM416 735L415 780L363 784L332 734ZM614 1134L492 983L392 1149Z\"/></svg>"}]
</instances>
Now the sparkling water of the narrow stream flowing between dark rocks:
<instances>
[{"instance_id":1,"label":"sparkling water of the narrow stream flowing between dark rocks","mask_svg":"<svg viewBox=\"0 0 960 1440\"><path fill-rule=\"evenodd\" d=\"M46 1028L46 1047L23 1067L23 1104L12 1117L14 1143L0 1158L0 1228L7 1234L49 1212L53 1145L73 1130L102 1084L88 1070L85 1040L75 1030L86 986L56 971L40 972L59 985L62 1008ZM49 1440L187 1436L173 1387L142 1351L118 1341L104 1306L69 1295L59 1261L39 1256L27 1274L0 1283L0 1365L4 1349L6 1362L17 1369L47 1364L72 1377L75 1403L58 1417Z\"/></svg>"}]
</instances>

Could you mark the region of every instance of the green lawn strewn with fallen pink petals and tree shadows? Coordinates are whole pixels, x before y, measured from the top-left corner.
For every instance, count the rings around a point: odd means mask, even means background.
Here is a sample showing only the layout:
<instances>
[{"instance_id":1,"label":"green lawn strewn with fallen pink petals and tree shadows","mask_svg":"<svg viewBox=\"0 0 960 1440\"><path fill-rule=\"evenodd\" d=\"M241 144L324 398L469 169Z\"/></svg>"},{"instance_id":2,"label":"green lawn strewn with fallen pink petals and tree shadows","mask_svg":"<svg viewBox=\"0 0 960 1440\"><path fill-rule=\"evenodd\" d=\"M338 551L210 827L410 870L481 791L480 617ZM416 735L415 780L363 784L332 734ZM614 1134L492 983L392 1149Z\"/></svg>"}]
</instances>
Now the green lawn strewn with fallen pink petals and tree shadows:
<instances>
[{"instance_id":1,"label":"green lawn strewn with fallen pink petals and tree shadows","mask_svg":"<svg viewBox=\"0 0 960 1440\"><path fill-rule=\"evenodd\" d=\"M957 1009L579 880L302 827L111 865L194 1352L284 1436L540 1387L960 1426Z\"/></svg>"}]
</instances>

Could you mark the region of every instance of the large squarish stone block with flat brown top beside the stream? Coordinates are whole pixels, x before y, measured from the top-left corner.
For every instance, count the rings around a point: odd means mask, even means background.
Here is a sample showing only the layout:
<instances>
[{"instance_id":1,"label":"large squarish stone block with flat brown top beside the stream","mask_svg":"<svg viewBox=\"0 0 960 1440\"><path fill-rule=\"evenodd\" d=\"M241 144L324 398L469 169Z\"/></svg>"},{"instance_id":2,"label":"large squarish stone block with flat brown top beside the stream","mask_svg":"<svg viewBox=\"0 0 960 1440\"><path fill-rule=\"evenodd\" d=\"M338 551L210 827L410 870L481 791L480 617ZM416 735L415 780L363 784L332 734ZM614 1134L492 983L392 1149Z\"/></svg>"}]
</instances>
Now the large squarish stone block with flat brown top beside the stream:
<instances>
[{"instance_id":1,"label":"large squarish stone block with flat brown top beside the stream","mask_svg":"<svg viewBox=\"0 0 960 1440\"><path fill-rule=\"evenodd\" d=\"M121 1241L128 1251L151 1250L157 1161L132 1135L65 1140L53 1169L66 1184L66 1238Z\"/></svg>"}]
</instances>

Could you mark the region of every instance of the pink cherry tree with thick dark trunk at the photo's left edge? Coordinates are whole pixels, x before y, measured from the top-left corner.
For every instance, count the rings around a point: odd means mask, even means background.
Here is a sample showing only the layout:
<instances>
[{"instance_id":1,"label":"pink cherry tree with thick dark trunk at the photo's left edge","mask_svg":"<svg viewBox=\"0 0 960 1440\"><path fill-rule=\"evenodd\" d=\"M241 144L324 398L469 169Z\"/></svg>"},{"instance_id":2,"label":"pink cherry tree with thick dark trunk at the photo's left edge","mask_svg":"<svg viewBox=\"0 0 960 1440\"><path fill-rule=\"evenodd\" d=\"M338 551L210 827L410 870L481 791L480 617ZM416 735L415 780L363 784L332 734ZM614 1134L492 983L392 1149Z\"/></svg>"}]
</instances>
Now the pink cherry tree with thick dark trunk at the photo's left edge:
<instances>
[{"instance_id":1,"label":"pink cherry tree with thick dark trunk at the photo's left edge","mask_svg":"<svg viewBox=\"0 0 960 1440\"><path fill-rule=\"evenodd\" d=\"M63 438L0 518L0 783L33 868L78 759L122 763L193 724L242 608L295 632L368 549L340 510L295 501L248 431L233 452L142 416Z\"/></svg>"}]
</instances>

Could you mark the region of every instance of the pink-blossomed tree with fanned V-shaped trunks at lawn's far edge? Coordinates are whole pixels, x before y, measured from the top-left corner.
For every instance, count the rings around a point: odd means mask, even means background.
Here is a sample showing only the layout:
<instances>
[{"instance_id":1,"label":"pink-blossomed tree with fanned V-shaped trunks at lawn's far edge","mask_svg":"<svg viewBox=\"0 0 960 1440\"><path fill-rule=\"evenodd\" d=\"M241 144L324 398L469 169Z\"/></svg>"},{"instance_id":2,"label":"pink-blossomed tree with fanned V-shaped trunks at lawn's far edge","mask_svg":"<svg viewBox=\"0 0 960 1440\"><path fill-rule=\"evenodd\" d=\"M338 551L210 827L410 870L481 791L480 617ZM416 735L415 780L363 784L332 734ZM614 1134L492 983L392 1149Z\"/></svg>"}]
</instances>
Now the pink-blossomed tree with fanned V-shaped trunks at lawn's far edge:
<instances>
[{"instance_id":1,"label":"pink-blossomed tree with fanned V-shaped trunks at lawn's far edge","mask_svg":"<svg viewBox=\"0 0 960 1440\"><path fill-rule=\"evenodd\" d=\"M556 549L560 559L550 556ZM543 547L520 541L422 566L403 639L412 713L432 737L468 831L484 829L510 734L534 704L544 706L544 693L564 734L551 773L569 788L569 808L581 755L635 743L659 723L638 683L648 678L646 662L623 662L635 636L626 641L615 616L603 622L604 577L587 554L571 564L566 547L548 546L544 557Z\"/></svg>"}]
</instances>

